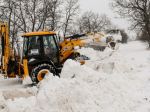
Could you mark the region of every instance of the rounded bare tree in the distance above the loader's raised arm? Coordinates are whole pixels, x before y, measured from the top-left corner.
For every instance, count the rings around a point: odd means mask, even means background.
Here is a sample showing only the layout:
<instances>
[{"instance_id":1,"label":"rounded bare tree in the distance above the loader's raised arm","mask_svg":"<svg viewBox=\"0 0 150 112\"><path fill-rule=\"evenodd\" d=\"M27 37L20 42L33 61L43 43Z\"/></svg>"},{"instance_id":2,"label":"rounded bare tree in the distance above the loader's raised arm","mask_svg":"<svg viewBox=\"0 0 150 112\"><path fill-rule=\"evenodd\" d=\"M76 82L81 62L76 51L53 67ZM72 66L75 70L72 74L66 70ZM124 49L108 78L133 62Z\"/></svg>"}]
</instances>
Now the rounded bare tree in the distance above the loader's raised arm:
<instances>
[{"instance_id":1,"label":"rounded bare tree in the distance above the loader's raised arm","mask_svg":"<svg viewBox=\"0 0 150 112\"><path fill-rule=\"evenodd\" d=\"M78 23L80 32L101 31L111 25L111 21L106 15L99 15L92 11L85 12Z\"/></svg>"}]
</instances>

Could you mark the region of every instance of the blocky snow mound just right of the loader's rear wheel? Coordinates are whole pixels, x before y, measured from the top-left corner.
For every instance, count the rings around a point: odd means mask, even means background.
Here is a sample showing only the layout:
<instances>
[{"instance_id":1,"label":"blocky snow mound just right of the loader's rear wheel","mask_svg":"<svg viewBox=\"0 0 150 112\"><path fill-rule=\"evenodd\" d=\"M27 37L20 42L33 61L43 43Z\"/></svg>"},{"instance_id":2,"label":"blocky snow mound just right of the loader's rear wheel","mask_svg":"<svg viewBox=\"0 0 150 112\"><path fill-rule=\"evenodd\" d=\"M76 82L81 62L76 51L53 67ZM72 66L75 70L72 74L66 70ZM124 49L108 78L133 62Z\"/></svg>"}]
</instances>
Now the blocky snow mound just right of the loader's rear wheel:
<instances>
[{"instance_id":1,"label":"blocky snow mound just right of the loader's rear wheel","mask_svg":"<svg viewBox=\"0 0 150 112\"><path fill-rule=\"evenodd\" d=\"M102 74L101 74L102 75ZM62 69L61 78L83 80L87 83L98 82L99 72L73 60L67 60Z\"/></svg>"}]
</instances>

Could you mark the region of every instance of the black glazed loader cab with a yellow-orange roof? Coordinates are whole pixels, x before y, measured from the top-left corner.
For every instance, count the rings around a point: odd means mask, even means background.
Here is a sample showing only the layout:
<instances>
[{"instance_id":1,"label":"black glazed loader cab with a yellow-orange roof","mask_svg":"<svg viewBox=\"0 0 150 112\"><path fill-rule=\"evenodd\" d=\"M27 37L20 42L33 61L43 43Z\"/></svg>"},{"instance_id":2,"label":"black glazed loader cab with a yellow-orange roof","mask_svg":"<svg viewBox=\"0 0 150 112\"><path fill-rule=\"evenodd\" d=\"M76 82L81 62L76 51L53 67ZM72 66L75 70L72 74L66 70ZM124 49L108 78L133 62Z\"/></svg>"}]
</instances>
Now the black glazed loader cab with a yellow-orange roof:
<instances>
[{"instance_id":1,"label":"black glazed loader cab with a yellow-orange roof","mask_svg":"<svg viewBox=\"0 0 150 112\"><path fill-rule=\"evenodd\" d=\"M59 46L55 32L31 32L23 35L23 58L28 62L52 61L59 63Z\"/></svg>"}]
</instances>

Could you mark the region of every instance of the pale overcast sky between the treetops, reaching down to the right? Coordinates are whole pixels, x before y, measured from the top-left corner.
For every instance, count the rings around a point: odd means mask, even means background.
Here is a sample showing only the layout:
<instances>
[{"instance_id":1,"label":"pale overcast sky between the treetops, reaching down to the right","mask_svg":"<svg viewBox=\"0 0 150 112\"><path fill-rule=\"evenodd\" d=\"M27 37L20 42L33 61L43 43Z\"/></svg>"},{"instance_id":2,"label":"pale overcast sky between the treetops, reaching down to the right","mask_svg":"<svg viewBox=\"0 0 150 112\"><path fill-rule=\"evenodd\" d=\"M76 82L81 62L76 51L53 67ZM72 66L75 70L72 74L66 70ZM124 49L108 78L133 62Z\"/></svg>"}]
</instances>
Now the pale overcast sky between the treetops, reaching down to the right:
<instances>
[{"instance_id":1,"label":"pale overcast sky between the treetops, reaching down to the right","mask_svg":"<svg viewBox=\"0 0 150 112\"><path fill-rule=\"evenodd\" d=\"M81 13L87 10L92 10L99 14L106 14L111 18L112 22L120 28L127 29L129 23L124 19L116 18L118 15L110 8L110 2L112 0L79 0Z\"/></svg>"}]
</instances>

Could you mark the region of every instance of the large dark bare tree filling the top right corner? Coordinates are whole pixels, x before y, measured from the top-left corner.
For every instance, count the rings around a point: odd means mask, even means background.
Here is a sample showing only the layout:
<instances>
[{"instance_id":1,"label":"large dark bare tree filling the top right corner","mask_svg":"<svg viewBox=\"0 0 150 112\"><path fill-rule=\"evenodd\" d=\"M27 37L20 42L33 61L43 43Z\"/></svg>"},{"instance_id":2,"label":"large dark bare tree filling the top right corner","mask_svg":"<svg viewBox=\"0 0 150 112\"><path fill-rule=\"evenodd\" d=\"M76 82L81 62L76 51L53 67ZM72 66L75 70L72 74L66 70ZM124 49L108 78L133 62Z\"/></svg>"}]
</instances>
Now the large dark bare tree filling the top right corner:
<instances>
[{"instance_id":1,"label":"large dark bare tree filling the top right corner","mask_svg":"<svg viewBox=\"0 0 150 112\"><path fill-rule=\"evenodd\" d=\"M114 0L113 8L122 17L129 18L132 29L145 32L150 41L150 0Z\"/></svg>"}]
</instances>

